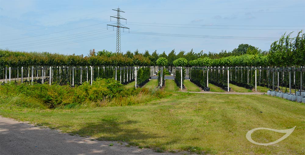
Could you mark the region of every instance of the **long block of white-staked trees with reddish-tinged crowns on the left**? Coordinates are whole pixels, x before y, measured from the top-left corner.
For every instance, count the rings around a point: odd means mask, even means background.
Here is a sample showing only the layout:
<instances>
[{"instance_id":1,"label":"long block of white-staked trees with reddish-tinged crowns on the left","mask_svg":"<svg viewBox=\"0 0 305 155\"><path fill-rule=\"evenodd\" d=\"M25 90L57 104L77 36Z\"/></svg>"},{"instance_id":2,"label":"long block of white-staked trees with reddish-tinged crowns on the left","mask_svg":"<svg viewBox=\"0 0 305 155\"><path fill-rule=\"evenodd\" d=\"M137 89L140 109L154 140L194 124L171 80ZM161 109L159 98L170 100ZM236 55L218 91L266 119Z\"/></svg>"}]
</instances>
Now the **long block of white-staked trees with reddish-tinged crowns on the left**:
<instances>
[{"instance_id":1,"label":"long block of white-staked trees with reddish-tinged crowns on the left","mask_svg":"<svg viewBox=\"0 0 305 155\"><path fill-rule=\"evenodd\" d=\"M119 54L112 57L83 57L0 51L0 56L3 65L0 67L1 77L5 83L21 80L74 86L84 82L92 83L96 78L114 78L122 84L137 80L136 85L143 86L156 68L150 67L150 60L142 55L135 55L133 58Z\"/></svg>"}]
</instances>

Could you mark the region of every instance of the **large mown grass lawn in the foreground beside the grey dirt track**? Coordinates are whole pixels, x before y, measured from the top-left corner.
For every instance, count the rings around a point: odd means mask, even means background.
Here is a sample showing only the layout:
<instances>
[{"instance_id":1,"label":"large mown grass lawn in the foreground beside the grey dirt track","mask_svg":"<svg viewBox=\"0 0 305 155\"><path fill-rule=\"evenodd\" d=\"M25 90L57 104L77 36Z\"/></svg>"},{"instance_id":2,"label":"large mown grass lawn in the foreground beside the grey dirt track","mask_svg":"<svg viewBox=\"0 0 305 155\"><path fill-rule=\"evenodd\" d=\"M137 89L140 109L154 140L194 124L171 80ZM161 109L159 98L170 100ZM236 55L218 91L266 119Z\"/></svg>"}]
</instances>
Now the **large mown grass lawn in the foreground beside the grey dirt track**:
<instances>
[{"instance_id":1,"label":"large mown grass lawn in the foreground beside the grey dirt track","mask_svg":"<svg viewBox=\"0 0 305 155\"><path fill-rule=\"evenodd\" d=\"M304 154L304 111L302 103L267 95L174 92L141 105L72 110L28 109L0 100L3 117L99 140L128 141L158 151L210 154ZM290 136L270 146L246 139L246 133L254 128L294 126ZM270 143L283 135L257 130L252 139Z\"/></svg>"}]
</instances>

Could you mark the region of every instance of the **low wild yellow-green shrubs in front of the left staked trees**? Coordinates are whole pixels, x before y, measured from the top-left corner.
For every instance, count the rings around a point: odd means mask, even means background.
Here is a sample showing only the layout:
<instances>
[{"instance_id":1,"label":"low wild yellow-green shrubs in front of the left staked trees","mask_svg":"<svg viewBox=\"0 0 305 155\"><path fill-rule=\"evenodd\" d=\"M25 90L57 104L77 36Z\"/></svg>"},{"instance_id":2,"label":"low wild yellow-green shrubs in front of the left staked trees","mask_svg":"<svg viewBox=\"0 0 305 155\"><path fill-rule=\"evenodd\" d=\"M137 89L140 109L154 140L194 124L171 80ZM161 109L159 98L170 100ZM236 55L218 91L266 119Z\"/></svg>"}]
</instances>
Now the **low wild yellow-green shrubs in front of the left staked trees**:
<instances>
[{"instance_id":1,"label":"low wild yellow-green shrubs in front of the left staked trees","mask_svg":"<svg viewBox=\"0 0 305 155\"><path fill-rule=\"evenodd\" d=\"M56 84L50 86L48 84L28 85L25 83L0 86L1 95L7 94L6 97L26 95L30 97L30 100L38 100L48 108L111 100L122 95L123 90L123 85L114 79L96 79L92 86L89 83L83 83L75 88Z\"/></svg>"}]
</instances>

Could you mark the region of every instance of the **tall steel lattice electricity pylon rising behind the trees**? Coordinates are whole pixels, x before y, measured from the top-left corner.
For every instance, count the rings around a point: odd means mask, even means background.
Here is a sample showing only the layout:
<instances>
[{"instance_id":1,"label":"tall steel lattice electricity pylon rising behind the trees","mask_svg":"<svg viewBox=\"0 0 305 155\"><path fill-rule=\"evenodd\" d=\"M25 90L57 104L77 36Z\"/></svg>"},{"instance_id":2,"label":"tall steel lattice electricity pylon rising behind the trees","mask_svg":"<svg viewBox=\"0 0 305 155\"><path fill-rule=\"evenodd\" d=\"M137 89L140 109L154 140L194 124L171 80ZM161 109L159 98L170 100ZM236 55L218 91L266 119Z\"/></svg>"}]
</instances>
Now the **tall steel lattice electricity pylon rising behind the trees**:
<instances>
[{"instance_id":1,"label":"tall steel lattice electricity pylon rising behind the trees","mask_svg":"<svg viewBox=\"0 0 305 155\"><path fill-rule=\"evenodd\" d=\"M119 7L117 9L112 9L112 10L117 11L117 16L110 16L110 21L111 21L111 17L116 18L117 25L114 25L115 23L111 24L111 25L107 24L107 29L108 29L108 26L113 26L113 30L114 30L114 27L117 27L117 48L116 48L116 50L117 50L117 53L120 53L121 52L121 30L120 30L120 28L128 29L128 32L129 32L129 28L120 23L120 19L125 19L122 16L120 16L120 12L124 12L124 11L122 11ZM127 23L127 19L125 19L125 20Z\"/></svg>"}]
</instances>

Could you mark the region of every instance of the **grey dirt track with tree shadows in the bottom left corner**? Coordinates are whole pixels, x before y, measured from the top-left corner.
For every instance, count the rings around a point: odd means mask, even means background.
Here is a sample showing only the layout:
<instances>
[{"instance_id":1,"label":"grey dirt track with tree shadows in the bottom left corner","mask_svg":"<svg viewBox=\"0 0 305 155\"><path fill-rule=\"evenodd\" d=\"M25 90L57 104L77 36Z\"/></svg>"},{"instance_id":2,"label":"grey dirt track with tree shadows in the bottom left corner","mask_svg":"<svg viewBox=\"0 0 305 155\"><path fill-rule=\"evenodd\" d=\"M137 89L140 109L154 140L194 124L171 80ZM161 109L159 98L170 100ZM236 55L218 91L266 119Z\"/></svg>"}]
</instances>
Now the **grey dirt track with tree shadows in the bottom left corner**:
<instances>
[{"instance_id":1,"label":"grey dirt track with tree shadows in the bottom left corner","mask_svg":"<svg viewBox=\"0 0 305 155\"><path fill-rule=\"evenodd\" d=\"M109 146L113 143L113 146ZM122 143L122 144L121 144ZM126 142L98 141L92 138L70 136L58 130L35 127L0 116L0 154L170 154L152 149L127 147ZM176 155L177 153L175 153Z\"/></svg>"}]
</instances>

